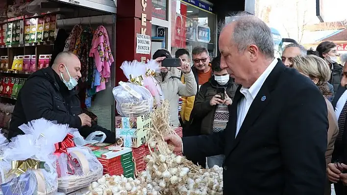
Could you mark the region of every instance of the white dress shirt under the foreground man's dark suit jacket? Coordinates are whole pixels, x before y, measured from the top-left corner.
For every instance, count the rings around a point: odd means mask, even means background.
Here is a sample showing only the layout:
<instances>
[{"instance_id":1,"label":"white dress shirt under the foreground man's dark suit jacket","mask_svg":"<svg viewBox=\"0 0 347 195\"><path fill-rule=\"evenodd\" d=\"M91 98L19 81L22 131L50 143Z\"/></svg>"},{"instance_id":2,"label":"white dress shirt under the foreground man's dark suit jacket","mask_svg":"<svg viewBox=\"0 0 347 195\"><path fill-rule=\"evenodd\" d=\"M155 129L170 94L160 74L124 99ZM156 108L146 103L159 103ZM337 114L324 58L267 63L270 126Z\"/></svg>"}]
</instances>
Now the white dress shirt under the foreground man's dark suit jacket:
<instances>
[{"instance_id":1,"label":"white dress shirt under the foreground man's dark suit jacket","mask_svg":"<svg viewBox=\"0 0 347 195\"><path fill-rule=\"evenodd\" d=\"M266 78L270 75L271 71L273 71L273 68L277 64L278 60L275 58L273 62L265 69L265 71L260 75L260 77L254 82L254 84L249 87L241 87L240 92L244 95L244 97L241 98L239 101L239 104L237 105L237 122L236 122L236 134L239 133L242 123L244 122L246 115L248 113L248 110L250 108L250 105L252 105L252 102L254 98L257 96L260 88L263 86Z\"/></svg>"}]
</instances>

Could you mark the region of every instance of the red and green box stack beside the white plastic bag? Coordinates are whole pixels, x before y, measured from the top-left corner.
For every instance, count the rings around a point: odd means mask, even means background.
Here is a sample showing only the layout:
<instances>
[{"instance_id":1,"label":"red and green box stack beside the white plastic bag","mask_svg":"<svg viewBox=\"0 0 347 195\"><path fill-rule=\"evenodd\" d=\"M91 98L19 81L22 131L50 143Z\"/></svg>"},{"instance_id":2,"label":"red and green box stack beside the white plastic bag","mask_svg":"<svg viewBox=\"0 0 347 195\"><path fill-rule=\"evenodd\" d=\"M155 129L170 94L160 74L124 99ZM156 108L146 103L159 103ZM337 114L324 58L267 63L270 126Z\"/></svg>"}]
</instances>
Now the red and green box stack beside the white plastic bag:
<instances>
[{"instance_id":1,"label":"red and green box stack beside the white plastic bag","mask_svg":"<svg viewBox=\"0 0 347 195\"><path fill-rule=\"evenodd\" d=\"M131 148L118 147L114 144L87 144L103 166L103 174L133 177L135 165Z\"/></svg>"}]
</instances>

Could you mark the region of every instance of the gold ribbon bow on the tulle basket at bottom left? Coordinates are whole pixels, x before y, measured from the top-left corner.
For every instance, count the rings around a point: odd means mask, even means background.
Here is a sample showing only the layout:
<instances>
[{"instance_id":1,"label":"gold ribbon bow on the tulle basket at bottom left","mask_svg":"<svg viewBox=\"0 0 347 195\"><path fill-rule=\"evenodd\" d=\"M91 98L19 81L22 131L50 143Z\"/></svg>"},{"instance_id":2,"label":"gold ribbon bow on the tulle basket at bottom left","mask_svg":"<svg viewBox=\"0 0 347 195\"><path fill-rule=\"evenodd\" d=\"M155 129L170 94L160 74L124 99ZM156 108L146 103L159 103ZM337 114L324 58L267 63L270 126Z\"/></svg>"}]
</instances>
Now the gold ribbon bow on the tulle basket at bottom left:
<instances>
[{"instance_id":1,"label":"gold ribbon bow on the tulle basket at bottom left","mask_svg":"<svg viewBox=\"0 0 347 195\"><path fill-rule=\"evenodd\" d=\"M14 160L11 162L9 174L16 174L18 177L28 169L45 169L45 162L28 158L26 160Z\"/></svg>"}]
</instances>

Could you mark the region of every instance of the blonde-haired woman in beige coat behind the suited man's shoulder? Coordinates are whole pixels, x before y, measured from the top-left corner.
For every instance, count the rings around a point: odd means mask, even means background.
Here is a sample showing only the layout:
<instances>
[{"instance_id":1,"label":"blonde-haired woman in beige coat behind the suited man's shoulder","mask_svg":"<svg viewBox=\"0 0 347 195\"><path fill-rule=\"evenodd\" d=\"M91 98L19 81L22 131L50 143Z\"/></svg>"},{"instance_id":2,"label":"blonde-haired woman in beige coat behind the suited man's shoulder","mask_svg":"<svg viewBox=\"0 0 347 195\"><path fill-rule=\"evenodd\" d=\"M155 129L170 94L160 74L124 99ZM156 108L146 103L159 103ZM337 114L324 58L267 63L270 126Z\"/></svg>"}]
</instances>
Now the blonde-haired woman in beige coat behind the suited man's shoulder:
<instances>
[{"instance_id":1,"label":"blonde-haired woman in beige coat behind the suited man's shoulder","mask_svg":"<svg viewBox=\"0 0 347 195\"><path fill-rule=\"evenodd\" d=\"M334 144L339 133L337 118L334 108L330 101L327 99L331 95L328 88L327 81L330 79L330 69L327 63L322 58L315 55L307 55L305 57L297 56L293 58L293 68L297 69L301 74L310 78L317 87L321 90L322 95L325 98L326 106L328 108L328 145L325 152L326 165L331 163L331 155L334 151ZM324 195L331 195L331 184L327 180L325 185Z\"/></svg>"}]
</instances>

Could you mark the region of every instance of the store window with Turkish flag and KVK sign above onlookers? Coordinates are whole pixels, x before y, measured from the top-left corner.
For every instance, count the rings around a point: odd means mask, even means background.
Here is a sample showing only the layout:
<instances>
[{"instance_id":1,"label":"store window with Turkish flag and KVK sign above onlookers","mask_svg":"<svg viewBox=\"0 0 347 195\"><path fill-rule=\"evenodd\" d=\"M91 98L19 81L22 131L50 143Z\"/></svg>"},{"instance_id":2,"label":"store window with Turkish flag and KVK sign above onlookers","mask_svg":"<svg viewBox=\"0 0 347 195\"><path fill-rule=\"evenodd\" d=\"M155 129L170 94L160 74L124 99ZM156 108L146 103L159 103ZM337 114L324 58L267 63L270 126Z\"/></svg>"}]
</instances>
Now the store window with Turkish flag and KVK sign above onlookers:
<instances>
[{"instance_id":1,"label":"store window with Turkish flag and KVK sign above onlookers","mask_svg":"<svg viewBox=\"0 0 347 195\"><path fill-rule=\"evenodd\" d=\"M216 55L216 15L212 5L198 0L172 1L171 52L185 48L192 52L198 45L204 46L213 58Z\"/></svg>"}]
</instances>

